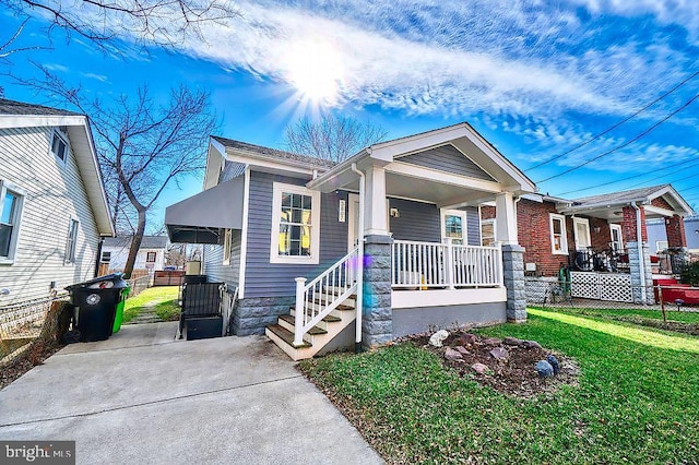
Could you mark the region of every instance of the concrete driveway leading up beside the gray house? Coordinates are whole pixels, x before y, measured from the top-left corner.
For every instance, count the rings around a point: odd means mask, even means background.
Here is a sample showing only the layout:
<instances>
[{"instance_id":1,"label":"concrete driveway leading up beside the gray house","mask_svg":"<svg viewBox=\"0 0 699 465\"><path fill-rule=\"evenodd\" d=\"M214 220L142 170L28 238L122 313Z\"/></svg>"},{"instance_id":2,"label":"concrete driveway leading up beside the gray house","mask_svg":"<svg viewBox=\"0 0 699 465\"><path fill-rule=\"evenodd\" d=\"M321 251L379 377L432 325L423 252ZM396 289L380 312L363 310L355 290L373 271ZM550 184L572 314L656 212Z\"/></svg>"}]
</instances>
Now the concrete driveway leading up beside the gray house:
<instances>
[{"instance_id":1,"label":"concrete driveway leading up beside the gray house","mask_svg":"<svg viewBox=\"0 0 699 465\"><path fill-rule=\"evenodd\" d=\"M127 325L63 348L0 391L0 439L75 440L85 464L381 463L265 337L175 332Z\"/></svg>"}]
</instances>

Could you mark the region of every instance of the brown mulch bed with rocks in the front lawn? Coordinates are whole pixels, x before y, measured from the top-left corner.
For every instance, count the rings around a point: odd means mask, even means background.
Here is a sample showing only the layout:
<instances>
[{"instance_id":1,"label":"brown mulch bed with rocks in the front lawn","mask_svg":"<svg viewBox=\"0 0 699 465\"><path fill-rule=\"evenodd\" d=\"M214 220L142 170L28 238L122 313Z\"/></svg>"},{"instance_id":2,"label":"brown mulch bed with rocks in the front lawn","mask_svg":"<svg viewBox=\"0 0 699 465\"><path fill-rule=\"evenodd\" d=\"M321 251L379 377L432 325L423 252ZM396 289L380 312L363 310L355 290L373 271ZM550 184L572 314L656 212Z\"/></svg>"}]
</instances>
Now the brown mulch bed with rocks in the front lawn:
<instances>
[{"instance_id":1,"label":"brown mulch bed with rocks in the front lawn","mask_svg":"<svg viewBox=\"0 0 699 465\"><path fill-rule=\"evenodd\" d=\"M450 332L447 339L442 342L442 347L435 347L429 344L433 333L416 334L407 336L404 341L423 347L437 355L442 365L448 369L453 369L459 375L471 377L482 385L490 386L496 391L519 397L533 397L542 393L556 391L564 384L577 384L579 369L574 360L562 354L537 347L534 342L521 342L516 338L499 339L496 337L484 337L471 334L467 330ZM520 341L520 345L516 343ZM445 354L450 349L459 350L462 358L450 360ZM500 347L507 350L506 360L496 359L490 351ZM559 362L558 374L547 378L538 375L534 366L540 360L546 360L548 355L554 355ZM472 368L474 363L483 363L488 370L485 373L477 373Z\"/></svg>"}]
</instances>

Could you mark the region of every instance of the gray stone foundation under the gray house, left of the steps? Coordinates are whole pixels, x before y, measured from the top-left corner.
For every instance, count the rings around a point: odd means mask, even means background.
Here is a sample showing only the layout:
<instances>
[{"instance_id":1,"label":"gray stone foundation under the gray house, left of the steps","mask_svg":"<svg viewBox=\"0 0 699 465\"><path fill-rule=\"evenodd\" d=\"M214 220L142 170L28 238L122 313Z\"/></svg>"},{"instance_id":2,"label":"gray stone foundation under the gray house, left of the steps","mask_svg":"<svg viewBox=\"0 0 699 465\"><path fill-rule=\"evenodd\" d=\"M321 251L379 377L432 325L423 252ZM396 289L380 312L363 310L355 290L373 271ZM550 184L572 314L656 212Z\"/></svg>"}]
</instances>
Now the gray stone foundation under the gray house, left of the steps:
<instances>
[{"instance_id":1,"label":"gray stone foundation under the gray house, left of the steps","mask_svg":"<svg viewBox=\"0 0 699 465\"><path fill-rule=\"evenodd\" d=\"M280 315L288 314L295 301L294 296L240 299L233 309L230 333L237 336L264 334L264 326L275 324Z\"/></svg>"}]
</instances>

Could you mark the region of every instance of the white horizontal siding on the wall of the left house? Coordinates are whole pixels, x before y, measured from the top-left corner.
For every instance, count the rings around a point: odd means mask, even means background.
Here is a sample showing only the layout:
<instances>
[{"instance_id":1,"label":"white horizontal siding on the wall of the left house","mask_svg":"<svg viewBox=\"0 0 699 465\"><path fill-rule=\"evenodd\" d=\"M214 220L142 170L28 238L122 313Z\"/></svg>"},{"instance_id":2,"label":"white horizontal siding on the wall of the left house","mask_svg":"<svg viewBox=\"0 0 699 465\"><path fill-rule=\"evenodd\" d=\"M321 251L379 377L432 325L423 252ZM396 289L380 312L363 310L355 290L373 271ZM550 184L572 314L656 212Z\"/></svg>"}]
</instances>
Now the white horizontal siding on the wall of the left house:
<instances>
[{"instance_id":1,"label":"white horizontal siding on the wall of the left house","mask_svg":"<svg viewBox=\"0 0 699 465\"><path fill-rule=\"evenodd\" d=\"M47 297L94 276L99 240L93 210L70 151L63 165L49 152L51 128L0 129L0 180L26 192L13 264L0 264L0 306ZM64 264L71 218L80 220L75 262Z\"/></svg>"}]
</instances>

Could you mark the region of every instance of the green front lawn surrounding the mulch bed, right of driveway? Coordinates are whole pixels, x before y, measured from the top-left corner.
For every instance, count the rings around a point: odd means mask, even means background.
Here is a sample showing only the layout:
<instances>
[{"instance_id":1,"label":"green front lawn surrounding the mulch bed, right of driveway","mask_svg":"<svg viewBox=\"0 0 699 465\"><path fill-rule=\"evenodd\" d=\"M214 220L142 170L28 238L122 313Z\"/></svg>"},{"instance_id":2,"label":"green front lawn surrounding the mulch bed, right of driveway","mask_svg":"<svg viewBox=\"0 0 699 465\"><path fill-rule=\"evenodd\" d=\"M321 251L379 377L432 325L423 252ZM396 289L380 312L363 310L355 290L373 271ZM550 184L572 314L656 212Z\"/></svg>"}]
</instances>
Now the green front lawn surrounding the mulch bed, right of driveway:
<instances>
[{"instance_id":1,"label":"green front lawn surrounding the mulch bed, right of driveway","mask_svg":"<svg viewBox=\"0 0 699 465\"><path fill-rule=\"evenodd\" d=\"M388 462L697 463L699 338L538 310L482 333L573 357L579 385L510 397L411 344L301 370Z\"/></svg>"}]
</instances>

